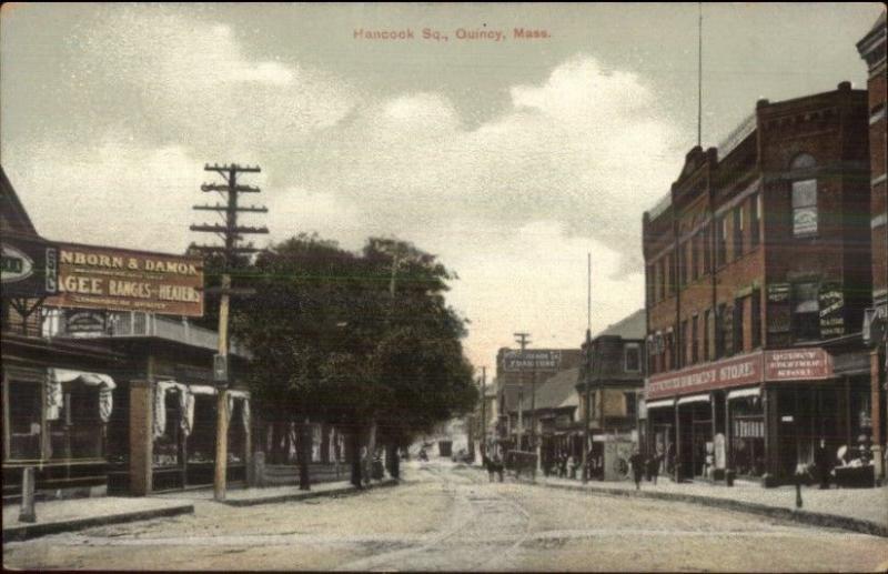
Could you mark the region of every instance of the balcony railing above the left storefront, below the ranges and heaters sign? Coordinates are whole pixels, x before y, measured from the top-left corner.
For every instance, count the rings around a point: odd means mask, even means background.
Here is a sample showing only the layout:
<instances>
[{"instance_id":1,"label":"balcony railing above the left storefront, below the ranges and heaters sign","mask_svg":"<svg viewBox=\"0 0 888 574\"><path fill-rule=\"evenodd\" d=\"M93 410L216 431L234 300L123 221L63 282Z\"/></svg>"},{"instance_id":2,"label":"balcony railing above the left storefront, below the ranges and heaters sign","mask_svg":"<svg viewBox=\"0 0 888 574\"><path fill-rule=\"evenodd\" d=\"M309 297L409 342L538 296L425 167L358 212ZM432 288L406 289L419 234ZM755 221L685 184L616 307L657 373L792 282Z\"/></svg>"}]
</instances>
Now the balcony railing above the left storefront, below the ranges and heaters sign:
<instances>
[{"instance_id":1,"label":"balcony railing above the left storefront, below the ranges and heaters sign","mask_svg":"<svg viewBox=\"0 0 888 574\"><path fill-rule=\"evenodd\" d=\"M219 349L219 335L215 331L192 325L185 319L175 320L141 312L109 313L104 328L91 332L69 332L64 320L58 314L48 319L44 332L49 336L78 339L154 336L213 351ZM229 349L232 354L250 356L249 351L234 340L230 342Z\"/></svg>"}]
</instances>

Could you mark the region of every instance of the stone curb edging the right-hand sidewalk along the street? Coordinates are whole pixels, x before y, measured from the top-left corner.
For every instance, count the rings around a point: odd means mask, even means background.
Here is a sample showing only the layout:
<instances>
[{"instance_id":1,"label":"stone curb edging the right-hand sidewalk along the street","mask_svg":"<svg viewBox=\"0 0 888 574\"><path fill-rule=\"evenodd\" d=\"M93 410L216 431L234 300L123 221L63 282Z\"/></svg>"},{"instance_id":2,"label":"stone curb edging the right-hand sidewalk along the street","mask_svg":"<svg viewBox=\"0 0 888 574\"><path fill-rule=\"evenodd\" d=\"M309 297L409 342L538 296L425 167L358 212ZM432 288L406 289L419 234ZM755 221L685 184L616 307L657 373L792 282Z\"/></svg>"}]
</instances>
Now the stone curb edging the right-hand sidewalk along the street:
<instances>
[{"instance_id":1,"label":"stone curb edging the right-hand sidewalk along the street","mask_svg":"<svg viewBox=\"0 0 888 574\"><path fill-rule=\"evenodd\" d=\"M700 504L704 506L714 506L730 511L746 512L749 514L760 514L770 516L773 518L781 518L814 526L825 526L830 528L841 528L851 532L859 532L862 534L870 534L874 536L888 537L888 526L871 521L860 518L851 518L849 516L837 516L835 514L825 514L820 512L798 511L791 508L781 508L778 506L768 506L767 504L756 504L751 502L736 501L729 499L716 499L712 496L700 496L698 494L677 494L666 492L650 492L650 491L623 491L614 489L601 489L596 486L573 486L567 484L545 484L545 483L528 483L525 481L516 481L522 484L529 484L532 486L542 486L546 489L561 489L573 492L585 492L588 494L604 494L608 496L626 496L638 499L653 499L666 502L686 502L690 504Z\"/></svg>"}]
</instances>

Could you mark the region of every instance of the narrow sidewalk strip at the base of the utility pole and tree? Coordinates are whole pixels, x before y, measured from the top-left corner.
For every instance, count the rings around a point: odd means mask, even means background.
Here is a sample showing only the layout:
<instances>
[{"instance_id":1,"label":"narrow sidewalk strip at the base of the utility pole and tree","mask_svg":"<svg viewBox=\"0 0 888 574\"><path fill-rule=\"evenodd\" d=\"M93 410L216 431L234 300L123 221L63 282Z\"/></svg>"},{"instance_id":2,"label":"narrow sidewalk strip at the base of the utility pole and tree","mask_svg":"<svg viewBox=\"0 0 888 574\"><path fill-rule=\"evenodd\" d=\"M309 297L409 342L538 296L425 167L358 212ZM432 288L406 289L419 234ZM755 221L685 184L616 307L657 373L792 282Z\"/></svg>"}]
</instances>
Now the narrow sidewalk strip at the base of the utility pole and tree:
<instances>
[{"instance_id":1,"label":"narrow sidewalk strip at the base of the utility pole and tree","mask_svg":"<svg viewBox=\"0 0 888 574\"><path fill-rule=\"evenodd\" d=\"M364 486L363 491L371 489L379 489L382 486L394 486L397 481L394 479L385 479L382 481L373 481L369 486ZM307 499L316 499L319 496L341 496L346 494L355 494L363 492L352 485L349 481L323 482L320 484L312 484L312 490L301 491L297 485L293 486L269 486L262 489L229 489L225 493L225 500L221 501L222 504L229 506L254 506L256 504L270 504L275 502L292 502L304 501ZM213 490L201 489L195 491L179 491L169 492L163 494L154 494L151 496L154 500L184 500L184 501L212 501Z\"/></svg>"}]
</instances>

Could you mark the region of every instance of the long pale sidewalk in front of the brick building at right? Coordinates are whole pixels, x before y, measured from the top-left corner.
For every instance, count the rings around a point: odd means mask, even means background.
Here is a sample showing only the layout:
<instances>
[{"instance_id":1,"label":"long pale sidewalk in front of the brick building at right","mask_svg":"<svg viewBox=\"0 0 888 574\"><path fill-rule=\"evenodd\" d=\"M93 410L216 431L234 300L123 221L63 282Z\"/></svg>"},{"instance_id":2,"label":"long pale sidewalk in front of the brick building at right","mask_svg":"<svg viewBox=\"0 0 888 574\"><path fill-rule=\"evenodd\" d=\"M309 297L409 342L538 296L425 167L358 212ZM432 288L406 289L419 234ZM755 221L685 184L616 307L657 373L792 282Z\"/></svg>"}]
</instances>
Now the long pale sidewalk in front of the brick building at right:
<instances>
[{"instance_id":1,"label":"long pale sidewalk in front of the brick building at right","mask_svg":"<svg viewBox=\"0 0 888 574\"><path fill-rule=\"evenodd\" d=\"M587 485L583 485L578 480L538 475L536 484L614 496L640 496L705 504L888 537L888 487L885 486L827 491L821 491L817 486L803 486L803 507L796 508L795 486L764 489L755 482L737 481L733 487L728 487L724 483L677 484L668 477L665 480L660 477L656 485L643 481L640 491L636 491L632 481L589 481Z\"/></svg>"}]
</instances>

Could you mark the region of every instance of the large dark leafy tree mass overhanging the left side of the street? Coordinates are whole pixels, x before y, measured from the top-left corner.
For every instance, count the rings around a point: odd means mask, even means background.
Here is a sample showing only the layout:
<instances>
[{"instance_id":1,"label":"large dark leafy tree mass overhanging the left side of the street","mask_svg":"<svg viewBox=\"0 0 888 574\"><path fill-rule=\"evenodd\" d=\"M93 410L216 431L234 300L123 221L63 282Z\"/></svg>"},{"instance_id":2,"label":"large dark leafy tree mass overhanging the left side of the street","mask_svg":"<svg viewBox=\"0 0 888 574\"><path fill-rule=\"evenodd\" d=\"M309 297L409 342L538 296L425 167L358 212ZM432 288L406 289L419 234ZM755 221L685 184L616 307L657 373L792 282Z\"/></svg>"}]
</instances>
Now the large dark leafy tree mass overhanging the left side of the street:
<instances>
[{"instance_id":1,"label":"large dark leafy tree mass overhanging the left side of the street","mask_svg":"<svg viewBox=\"0 0 888 574\"><path fill-rule=\"evenodd\" d=\"M244 275L256 294L233 321L263 412L364 429L371 461L377 436L391 449L470 411L464 320L444 300L453 279L392 239L370 239L360 255L316 234L273 245Z\"/></svg>"}]
</instances>

